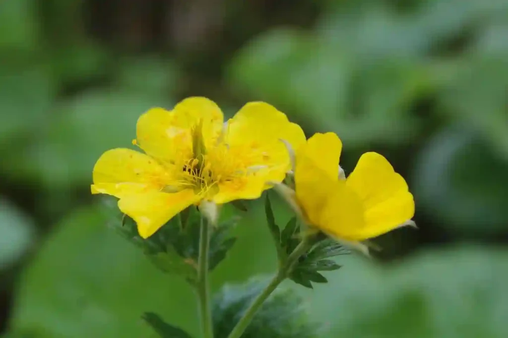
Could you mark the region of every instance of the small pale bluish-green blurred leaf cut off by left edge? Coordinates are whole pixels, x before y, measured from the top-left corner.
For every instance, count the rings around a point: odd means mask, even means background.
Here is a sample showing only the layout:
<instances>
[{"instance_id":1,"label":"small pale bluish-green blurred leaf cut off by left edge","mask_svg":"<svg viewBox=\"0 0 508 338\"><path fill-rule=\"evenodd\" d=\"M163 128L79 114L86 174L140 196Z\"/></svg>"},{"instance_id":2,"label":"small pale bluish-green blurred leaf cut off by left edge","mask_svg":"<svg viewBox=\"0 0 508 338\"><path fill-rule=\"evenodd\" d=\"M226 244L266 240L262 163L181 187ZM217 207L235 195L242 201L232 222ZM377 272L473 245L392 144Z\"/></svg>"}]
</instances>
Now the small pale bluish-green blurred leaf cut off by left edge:
<instances>
[{"instance_id":1,"label":"small pale bluish-green blurred leaf cut off by left edge","mask_svg":"<svg viewBox=\"0 0 508 338\"><path fill-rule=\"evenodd\" d=\"M0 199L0 271L10 267L29 248L33 222L6 199Z\"/></svg>"}]
</instances>

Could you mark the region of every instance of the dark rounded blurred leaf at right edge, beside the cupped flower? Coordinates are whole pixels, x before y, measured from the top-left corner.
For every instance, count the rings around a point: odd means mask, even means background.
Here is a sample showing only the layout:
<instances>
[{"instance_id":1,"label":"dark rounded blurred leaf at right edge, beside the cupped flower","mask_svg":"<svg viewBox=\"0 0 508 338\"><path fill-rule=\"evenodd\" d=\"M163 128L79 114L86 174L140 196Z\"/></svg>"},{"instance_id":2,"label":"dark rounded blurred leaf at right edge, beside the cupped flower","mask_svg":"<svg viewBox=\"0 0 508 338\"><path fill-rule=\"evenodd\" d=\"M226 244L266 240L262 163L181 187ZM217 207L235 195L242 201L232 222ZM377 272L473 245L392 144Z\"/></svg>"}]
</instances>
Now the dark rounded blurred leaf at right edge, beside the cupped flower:
<instances>
[{"instance_id":1,"label":"dark rounded blurred leaf at right edge, beside the cupped flower","mask_svg":"<svg viewBox=\"0 0 508 338\"><path fill-rule=\"evenodd\" d=\"M462 125L430 140L414 174L418 205L444 229L477 238L505 231L508 162Z\"/></svg>"}]
</instances>

